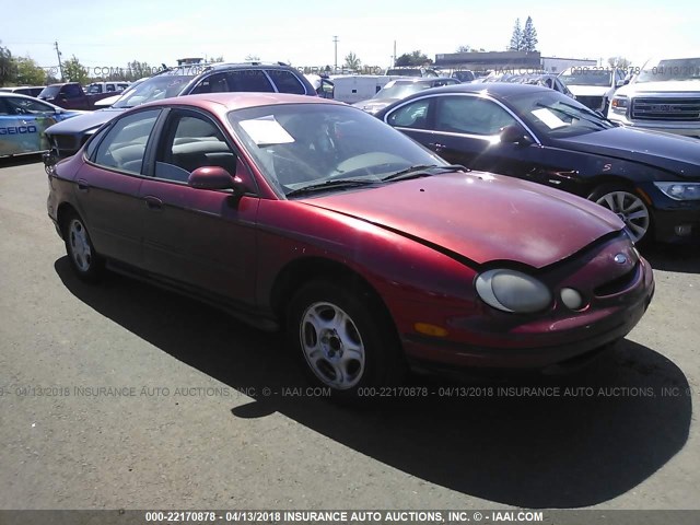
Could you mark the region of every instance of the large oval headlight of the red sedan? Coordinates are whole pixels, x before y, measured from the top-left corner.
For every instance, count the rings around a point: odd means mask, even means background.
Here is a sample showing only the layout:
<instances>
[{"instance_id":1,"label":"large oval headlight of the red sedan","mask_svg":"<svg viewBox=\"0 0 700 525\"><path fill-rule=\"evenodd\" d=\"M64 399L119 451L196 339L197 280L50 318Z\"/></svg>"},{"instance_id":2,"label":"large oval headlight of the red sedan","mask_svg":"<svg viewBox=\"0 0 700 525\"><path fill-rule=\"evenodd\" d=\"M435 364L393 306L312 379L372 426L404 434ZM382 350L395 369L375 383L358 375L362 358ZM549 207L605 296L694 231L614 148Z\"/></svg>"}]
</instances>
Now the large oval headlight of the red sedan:
<instances>
[{"instance_id":1,"label":"large oval headlight of the red sedan","mask_svg":"<svg viewBox=\"0 0 700 525\"><path fill-rule=\"evenodd\" d=\"M489 306L530 314L551 303L549 289L537 279L514 270L488 270L477 277L477 293Z\"/></svg>"}]
</instances>

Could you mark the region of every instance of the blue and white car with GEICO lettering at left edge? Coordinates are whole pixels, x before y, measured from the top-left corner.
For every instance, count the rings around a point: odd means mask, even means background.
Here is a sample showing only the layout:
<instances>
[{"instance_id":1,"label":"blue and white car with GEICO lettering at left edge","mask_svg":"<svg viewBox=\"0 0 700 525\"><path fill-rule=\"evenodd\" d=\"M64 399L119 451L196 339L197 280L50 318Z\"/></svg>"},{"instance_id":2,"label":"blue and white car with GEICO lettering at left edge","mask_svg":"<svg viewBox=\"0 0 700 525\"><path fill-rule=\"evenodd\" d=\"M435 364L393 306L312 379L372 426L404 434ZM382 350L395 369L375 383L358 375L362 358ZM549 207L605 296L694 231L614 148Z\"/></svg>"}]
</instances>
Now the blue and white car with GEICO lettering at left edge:
<instances>
[{"instance_id":1,"label":"blue and white car with GEICO lettering at left edge","mask_svg":"<svg viewBox=\"0 0 700 525\"><path fill-rule=\"evenodd\" d=\"M82 112L69 112L33 96L0 92L0 156L49 149L46 128Z\"/></svg>"}]
</instances>

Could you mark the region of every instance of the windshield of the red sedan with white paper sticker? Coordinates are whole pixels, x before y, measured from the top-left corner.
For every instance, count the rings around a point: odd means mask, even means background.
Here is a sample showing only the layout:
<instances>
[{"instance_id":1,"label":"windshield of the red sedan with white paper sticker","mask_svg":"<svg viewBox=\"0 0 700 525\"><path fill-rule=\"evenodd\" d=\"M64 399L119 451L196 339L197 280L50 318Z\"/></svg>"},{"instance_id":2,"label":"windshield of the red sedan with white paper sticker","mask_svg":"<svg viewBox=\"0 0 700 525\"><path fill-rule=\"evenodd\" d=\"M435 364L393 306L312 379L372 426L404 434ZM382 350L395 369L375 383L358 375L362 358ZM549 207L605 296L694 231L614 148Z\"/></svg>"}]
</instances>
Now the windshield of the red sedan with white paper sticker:
<instances>
[{"instance_id":1,"label":"windshield of the red sedan with white paper sticker","mask_svg":"<svg viewBox=\"0 0 700 525\"><path fill-rule=\"evenodd\" d=\"M343 180L380 183L411 166L446 163L377 118L336 104L237 109L229 120L281 194Z\"/></svg>"}]
</instances>

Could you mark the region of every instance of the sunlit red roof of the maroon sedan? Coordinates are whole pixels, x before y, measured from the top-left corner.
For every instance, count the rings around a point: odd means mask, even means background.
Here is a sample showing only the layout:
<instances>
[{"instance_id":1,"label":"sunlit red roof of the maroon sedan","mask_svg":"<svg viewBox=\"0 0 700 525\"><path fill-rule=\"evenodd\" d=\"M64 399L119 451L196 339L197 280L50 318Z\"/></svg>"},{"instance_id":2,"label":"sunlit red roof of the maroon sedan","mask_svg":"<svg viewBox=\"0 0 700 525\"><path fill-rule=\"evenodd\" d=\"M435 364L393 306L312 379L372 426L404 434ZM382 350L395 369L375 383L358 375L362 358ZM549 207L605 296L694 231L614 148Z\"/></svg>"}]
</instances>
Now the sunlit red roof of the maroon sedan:
<instances>
[{"instance_id":1,"label":"sunlit red roof of the maroon sedan","mask_svg":"<svg viewBox=\"0 0 700 525\"><path fill-rule=\"evenodd\" d=\"M189 106L207 109L217 115L224 115L234 109L245 109L258 106L278 106L281 104L331 104L350 107L338 101L308 95L292 95L289 93L202 93L198 95L176 96L162 101L149 102L137 106L139 109L163 106Z\"/></svg>"}]
</instances>

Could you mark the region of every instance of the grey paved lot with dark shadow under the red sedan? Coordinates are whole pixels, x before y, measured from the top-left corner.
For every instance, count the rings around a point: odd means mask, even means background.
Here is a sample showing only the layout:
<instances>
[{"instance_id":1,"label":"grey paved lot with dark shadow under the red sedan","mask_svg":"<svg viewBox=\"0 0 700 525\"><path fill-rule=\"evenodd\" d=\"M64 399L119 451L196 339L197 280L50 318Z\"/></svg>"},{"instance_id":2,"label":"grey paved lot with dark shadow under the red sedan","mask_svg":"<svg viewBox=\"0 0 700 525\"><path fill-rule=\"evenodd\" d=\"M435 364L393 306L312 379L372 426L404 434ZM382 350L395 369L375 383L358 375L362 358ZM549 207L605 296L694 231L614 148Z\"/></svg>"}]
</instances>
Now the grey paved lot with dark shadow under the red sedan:
<instances>
[{"instance_id":1,"label":"grey paved lot with dark shadow under the red sedan","mask_svg":"<svg viewBox=\"0 0 700 525\"><path fill-rule=\"evenodd\" d=\"M304 382L275 335L77 281L46 195L0 161L0 509L700 508L699 249L648 254L650 311L586 371L358 411L282 395Z\"/></svg>"}]
</instances>

